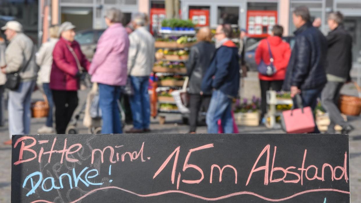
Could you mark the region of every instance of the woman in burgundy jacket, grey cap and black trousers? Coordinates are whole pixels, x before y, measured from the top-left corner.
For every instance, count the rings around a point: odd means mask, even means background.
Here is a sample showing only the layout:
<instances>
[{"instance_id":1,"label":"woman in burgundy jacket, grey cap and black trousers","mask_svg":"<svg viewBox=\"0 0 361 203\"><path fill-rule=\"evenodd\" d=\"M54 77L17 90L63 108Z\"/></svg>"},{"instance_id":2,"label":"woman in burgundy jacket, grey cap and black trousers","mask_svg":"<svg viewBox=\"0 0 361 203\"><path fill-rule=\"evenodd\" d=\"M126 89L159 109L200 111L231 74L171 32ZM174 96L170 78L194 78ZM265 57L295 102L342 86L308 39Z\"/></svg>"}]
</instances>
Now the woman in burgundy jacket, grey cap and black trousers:
<instances>
[{"instance_id":1,"label":"woman in burgundy jacket, grey cap and black trousers","mask_svg":"<svg viewBox=\"0 0 361 203\"><path fill-rule=\"evenodd\" d=\"M75 26L70 22L62 23L59 27L60 40L53 50L50 89L55 105L55 124L58 134L65 134L71 116L78 106L81 72L87 71L90 66L79 43L74 40L74 29Z\"/></svg>"}]
</instances>

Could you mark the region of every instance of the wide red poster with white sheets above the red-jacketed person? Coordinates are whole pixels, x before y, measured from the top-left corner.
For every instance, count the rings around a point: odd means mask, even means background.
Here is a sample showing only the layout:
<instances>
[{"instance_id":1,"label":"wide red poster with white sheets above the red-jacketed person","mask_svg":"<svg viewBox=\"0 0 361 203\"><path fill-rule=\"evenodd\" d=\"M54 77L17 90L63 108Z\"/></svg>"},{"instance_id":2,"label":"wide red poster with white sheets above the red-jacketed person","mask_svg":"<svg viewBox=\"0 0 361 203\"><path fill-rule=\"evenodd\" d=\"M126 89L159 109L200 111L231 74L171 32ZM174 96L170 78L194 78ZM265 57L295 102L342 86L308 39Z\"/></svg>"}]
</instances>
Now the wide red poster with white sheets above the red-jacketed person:
<instances>
[{"instance_id":1,"label":"wide red poster with white sheets above the red-jacketed person","mask_svg":"<svg viewBox=\"0 0 361 203\"><path fill-rule=\"evenodd\" d=\"M267 37L272 27L277 24L277 11L275 10L248 10L247 31L249 37Z\"/></svg>"}]
</instances>

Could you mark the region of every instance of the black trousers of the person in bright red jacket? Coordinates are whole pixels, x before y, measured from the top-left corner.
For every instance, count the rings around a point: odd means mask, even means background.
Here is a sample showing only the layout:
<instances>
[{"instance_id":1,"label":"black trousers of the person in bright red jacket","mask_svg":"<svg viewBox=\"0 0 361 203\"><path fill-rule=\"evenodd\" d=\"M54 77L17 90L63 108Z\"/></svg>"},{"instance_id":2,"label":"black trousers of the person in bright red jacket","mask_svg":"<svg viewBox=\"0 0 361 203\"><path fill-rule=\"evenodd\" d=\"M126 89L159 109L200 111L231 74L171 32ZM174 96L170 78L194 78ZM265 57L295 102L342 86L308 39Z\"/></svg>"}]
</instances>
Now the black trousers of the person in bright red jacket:
<instances>
[{"instance_id":1,"label":"black trousers of the person in bright red jacket","mask_svg":"<svg viewBox=\"0 0 361 203\"><path fill-rule=\"evenodd\" d=\"M271 88L274 91L281 91L283 80L260 80L261 84L261 118L267 113L266 92Z\"/></svg>"}]
</instances>

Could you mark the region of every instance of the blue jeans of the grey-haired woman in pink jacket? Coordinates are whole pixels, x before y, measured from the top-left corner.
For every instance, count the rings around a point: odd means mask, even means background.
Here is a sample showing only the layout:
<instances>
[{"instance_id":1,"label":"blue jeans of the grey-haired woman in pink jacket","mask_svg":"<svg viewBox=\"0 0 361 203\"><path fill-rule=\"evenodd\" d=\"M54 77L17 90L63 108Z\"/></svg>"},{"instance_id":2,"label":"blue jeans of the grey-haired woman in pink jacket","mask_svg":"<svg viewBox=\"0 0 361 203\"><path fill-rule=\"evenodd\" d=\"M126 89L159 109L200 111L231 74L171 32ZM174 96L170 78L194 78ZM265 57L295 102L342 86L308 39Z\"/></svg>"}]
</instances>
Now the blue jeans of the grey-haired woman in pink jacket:
<instances>
[{"instance_id":1,"label":"blue jeans of the grey-haired woman in pink jacket","mask_svg":"<svg viewBox=\"0 0 361 203\"><path fill-rule=\"evenodd\" d=\"M103 125L101 133L120 134L123 133L120 119L118 99L120 97L120 87L98 84L99 86L99 106Z\"/></svg>"}]
</instances>

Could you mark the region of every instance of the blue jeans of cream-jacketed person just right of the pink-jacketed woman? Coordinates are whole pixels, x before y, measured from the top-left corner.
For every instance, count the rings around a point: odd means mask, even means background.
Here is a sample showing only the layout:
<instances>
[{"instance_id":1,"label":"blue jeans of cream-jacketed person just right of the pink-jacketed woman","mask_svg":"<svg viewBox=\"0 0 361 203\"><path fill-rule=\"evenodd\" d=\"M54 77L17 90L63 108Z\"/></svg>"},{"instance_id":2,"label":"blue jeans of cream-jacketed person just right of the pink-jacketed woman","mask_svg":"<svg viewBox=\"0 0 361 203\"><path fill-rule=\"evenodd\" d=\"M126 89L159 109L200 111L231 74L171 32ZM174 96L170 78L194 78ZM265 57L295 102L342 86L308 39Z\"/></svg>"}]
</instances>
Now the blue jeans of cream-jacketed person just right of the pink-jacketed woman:
<instances>
[{"instance_id":1,"label":"blue jeans of cream-jacketed person just right of the pink-jacketed woman","mask_svg":"<svg viewBox=\"0 0 361 203\"><path fill-rule=\"evenodd\" d=\"M134 95L130 97L133 126L135 129L149 129L151 117L151 104L149 101L149 77L130 76Z\"/></svg>"}]
</instances>

